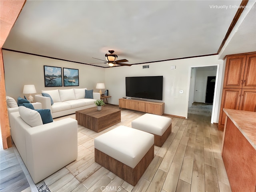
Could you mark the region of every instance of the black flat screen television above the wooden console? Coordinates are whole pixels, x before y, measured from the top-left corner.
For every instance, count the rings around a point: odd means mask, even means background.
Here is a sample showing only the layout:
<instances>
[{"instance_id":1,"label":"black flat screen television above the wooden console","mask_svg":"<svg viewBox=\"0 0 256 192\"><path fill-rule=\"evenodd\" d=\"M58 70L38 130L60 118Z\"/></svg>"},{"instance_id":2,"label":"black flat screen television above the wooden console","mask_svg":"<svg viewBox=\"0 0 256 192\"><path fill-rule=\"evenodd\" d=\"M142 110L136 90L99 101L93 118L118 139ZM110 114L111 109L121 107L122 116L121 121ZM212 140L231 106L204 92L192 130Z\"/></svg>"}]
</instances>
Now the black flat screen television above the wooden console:
<instances>
[{"instance_id":1,"label":"black flat screen television above the wooden console","mask_svg":"<svg viewBox=\"0 0 256 192\"><path fill-rule=\"evenodd\" d=\"M162 100L163 76L126 77L126 97Z\"/></svg>"}]
</instances>

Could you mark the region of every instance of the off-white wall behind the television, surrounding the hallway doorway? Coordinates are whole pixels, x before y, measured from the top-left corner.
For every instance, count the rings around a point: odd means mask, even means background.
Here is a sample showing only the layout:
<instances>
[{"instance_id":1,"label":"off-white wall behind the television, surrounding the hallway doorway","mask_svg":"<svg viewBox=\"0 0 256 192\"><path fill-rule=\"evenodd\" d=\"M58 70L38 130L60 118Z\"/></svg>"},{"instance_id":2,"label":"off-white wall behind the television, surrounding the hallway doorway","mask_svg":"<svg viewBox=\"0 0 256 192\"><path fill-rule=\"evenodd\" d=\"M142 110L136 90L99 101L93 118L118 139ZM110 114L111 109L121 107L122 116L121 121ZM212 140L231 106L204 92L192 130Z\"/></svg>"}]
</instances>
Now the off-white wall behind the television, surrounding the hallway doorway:
<instances>
[{"instance_id":1,"label":"off-white wall behind the television, surrounding the hallway doorway","mask_svg":"<svg viewBox=\"0 0 256 192\"><path fill-rule=\"evenodd\" d=\"M126 76L164 76L163 82L163 102L165 102L165 114L182 116L187 118L188 98L190 87L191 67L219 65L219 78L216 86L220 87L222 80L223 60L218 60L218 56L205 56L182 60L172 60L148 64L150 68L142 69L142 65L122 66L106 68L105 86L112 96L109 102L118 105L118 99L125 96ZM176 66L171 70L170 66ZM179 90L184 90L183 94ZM216 113L214 122L218 122L218 104L221 101L220 89L216 92Z\"/></svg>"}]
</instances>

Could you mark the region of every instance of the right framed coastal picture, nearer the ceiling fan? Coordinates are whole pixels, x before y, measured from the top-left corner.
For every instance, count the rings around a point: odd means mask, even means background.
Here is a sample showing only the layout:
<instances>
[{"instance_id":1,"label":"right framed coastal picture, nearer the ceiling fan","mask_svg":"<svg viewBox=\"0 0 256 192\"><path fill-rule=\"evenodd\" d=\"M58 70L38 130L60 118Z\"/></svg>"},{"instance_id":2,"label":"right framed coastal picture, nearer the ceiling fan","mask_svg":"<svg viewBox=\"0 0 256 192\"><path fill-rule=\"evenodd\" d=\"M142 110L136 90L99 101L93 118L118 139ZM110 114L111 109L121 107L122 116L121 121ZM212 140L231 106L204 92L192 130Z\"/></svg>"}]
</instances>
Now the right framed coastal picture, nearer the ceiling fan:
<instances>
[{"instance_id":1,"label":"right framed coastal picture, nearer the ceiling fan","mask_svg":"<svg viewBox=\"0 0 256 192\"><path fill-rule=\"evenodd\" d=\"M79 86L78 69L63 68L64 86Z\"/></svg>"}]
</instances>

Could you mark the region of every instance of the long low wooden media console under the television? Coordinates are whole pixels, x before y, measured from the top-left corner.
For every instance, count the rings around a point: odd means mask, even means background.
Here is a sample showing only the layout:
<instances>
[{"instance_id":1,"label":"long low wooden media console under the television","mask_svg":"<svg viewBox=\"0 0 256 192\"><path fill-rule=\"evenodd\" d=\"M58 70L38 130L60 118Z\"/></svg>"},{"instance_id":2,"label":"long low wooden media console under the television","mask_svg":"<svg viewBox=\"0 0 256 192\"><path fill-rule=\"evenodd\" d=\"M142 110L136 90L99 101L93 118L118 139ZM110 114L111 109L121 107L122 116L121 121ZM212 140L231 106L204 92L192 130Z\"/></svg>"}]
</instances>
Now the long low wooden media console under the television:
<instances>
[{"instance_id":1,"label":"long low wooden media console under the television","mask_svg":"<svg viewBox=\"0 0 256 192\"><path fill-rule=\"evenodd\" d=\"M164 102L121 98L119 99L119 108L126 108L156 115L164 114Z\"/></svg>"}]
</instances>

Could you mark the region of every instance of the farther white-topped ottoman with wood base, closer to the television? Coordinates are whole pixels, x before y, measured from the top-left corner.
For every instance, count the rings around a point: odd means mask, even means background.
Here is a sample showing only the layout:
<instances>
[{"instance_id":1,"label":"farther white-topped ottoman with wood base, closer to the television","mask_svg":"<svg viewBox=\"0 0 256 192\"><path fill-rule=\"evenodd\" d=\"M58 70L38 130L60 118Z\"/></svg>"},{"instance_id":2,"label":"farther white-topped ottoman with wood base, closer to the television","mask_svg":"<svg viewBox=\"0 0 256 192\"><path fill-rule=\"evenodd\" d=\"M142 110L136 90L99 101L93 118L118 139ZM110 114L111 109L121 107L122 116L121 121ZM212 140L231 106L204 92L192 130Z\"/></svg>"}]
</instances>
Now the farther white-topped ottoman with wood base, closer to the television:
<instances>
[{"instance_id":1,"label":"farther white-topped ottoman with wood base, closer to the television","mask_svg":"<svg viewBox=\"0 0 256 192\"><path fill-rule=\"evenodd\" d=\"M154 134L154 144L161 147L172 132L172 119L146 113L132 121L132 128Z\"/></svg>"}]
</instances>

